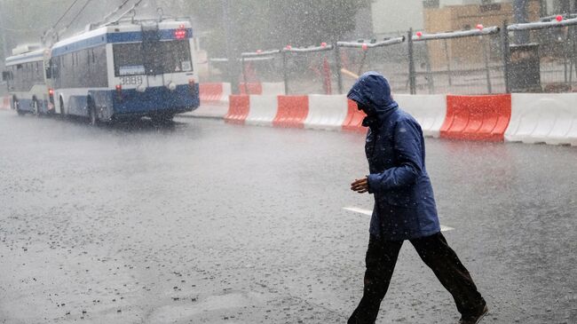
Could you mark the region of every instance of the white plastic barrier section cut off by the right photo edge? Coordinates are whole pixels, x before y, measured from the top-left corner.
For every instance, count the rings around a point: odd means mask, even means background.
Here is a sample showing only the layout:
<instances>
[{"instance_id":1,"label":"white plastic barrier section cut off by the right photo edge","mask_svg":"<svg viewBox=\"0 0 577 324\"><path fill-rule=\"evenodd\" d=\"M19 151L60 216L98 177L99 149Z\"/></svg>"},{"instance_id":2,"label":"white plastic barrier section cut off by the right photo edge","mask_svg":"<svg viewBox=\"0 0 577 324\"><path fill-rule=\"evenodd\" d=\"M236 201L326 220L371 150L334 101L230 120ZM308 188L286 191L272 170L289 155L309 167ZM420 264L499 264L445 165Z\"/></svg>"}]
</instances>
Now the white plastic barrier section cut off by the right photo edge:
<instances>
[{"instance_id":1,"label":"white plastic barrier section cut off by the right photo edge","mask_svg":"<svg viewBox=\"0 0 577 324\"><path fill-rule=\"evenodd\" d=\"M508 142L577 146L577 93L513 94Z\"/></svg>"}]
</instances>

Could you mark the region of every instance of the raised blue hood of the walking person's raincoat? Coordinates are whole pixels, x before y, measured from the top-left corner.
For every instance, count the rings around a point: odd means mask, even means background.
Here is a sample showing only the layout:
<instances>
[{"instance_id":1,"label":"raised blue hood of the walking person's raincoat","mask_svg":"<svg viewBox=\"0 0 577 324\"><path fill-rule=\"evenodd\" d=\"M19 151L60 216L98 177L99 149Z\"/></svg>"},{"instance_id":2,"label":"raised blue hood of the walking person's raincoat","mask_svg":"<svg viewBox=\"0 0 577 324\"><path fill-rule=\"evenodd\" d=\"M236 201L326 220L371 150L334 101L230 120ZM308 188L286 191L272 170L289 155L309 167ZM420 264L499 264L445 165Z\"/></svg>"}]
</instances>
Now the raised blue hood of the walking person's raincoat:
<instances>
[{"instance_id":1,"label":"raised blue hood of the walking person's raincoat","mask_svg":"<svg viewBox=\"0 0 577 324\"><path fill-rule=\"evenodd\" d=\"M391 97L391 86L387 79L374 71L360 75L359 80L352 85L347 98L367 107L369 117L379 119L399 107Z\"/></svg>"}]
</instances>

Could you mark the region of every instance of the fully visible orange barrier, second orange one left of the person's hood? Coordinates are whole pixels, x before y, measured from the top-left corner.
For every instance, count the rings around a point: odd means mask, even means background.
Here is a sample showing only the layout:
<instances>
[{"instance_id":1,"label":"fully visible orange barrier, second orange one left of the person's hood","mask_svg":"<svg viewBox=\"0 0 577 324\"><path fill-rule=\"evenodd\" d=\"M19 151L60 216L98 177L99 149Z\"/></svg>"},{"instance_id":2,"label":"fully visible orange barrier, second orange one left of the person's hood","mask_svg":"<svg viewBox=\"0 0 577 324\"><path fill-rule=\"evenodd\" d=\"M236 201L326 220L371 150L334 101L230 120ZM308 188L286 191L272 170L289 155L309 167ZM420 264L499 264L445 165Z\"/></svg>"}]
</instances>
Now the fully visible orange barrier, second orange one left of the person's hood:
<instances>
[{"instance_id":1,"label":"fully visible orange barrier, second orange one left of the person's hood","mask_svg":"<svg viewBox=\"0 0 577 324\"><path fill-rule=\"evenodd\" d=\"M309 115L309 97L279 96L278 100L279 107L273 126L304 128L304 120Z\"/></svg>"}]
</instances>

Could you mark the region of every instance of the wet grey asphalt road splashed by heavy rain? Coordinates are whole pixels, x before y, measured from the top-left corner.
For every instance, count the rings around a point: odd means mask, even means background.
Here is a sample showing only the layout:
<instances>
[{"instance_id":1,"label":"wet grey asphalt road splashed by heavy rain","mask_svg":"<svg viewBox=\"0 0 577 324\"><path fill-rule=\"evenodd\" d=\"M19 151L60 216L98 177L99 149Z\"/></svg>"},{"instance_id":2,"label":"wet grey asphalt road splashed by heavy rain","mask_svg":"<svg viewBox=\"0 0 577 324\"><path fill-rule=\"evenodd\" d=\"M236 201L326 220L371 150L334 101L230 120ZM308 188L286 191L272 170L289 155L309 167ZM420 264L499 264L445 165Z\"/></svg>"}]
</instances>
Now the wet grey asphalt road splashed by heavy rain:
<instances>
[{"instance_id":1,"label":"wet grey asphalt road splashed by heavy rain","mask_svg":"<svg viewBox=\"0 0 577 324\"><path fill-rule=\"evenodd\" d=\"M344 323L360 300L363 136L0 111L0 323ZM577 149L427 140L485 323L577 322ZM453 323L406 244L377 323Z\"/></svg>"}]
</instances>

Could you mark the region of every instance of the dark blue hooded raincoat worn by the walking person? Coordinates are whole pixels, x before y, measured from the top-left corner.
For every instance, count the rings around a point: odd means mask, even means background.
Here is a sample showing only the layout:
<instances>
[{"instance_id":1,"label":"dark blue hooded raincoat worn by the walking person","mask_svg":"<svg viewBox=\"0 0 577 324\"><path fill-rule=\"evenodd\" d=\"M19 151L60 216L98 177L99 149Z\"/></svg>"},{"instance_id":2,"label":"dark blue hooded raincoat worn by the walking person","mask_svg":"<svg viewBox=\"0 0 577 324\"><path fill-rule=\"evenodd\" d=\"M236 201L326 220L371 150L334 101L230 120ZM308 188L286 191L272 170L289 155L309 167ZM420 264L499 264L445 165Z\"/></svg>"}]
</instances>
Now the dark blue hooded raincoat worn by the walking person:
<instances>
[{"instance_id":1,"label":"dark blue hooded raincoat worn by the walking person","mask_svg":"<svg viewBox=\"0 0 577 324\"><path fill-rule=\"evenodd\" d=\"M361 75L347 97L368 110L363 125L368 192L375 194L371 235L400 241L439 233L419 123L399 108L388 81L376 72Z\"/></svg>"}]
</instances>

